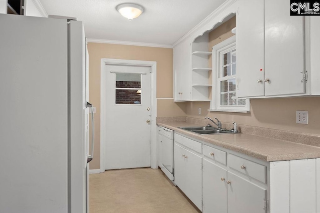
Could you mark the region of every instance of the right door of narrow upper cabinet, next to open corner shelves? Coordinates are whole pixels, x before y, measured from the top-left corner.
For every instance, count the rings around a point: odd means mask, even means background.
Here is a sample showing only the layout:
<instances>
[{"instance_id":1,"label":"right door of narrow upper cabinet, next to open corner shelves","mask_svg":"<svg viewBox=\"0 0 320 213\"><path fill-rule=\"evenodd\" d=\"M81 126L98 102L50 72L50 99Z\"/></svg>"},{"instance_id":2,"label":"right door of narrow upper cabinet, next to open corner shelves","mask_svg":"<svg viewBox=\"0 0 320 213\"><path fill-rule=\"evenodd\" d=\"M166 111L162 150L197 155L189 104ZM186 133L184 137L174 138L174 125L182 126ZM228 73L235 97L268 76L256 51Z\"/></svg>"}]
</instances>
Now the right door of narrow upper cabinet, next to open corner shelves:
<instances>
[{"instance_id":1,"label":"right door of narrow upper cabinet, next to open corner shelves","mask_svg":"<svg viewBox=\"0 0 320 213\"><path fill-rule=\"evenodd\" d=\"M191 99L191 45L190 39L182 42L181 46L181 100Z\"/></svg>"}]
</instances>

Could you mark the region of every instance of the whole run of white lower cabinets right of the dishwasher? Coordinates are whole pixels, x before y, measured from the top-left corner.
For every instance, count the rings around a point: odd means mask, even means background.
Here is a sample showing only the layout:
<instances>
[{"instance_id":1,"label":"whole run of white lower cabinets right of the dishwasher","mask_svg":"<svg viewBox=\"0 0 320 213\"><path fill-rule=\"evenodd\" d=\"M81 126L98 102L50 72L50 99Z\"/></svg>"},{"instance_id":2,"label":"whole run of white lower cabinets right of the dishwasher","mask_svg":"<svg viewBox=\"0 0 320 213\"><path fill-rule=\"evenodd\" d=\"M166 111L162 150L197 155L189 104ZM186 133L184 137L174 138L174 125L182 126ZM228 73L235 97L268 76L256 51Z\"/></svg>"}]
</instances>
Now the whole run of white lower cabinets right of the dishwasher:
<instances>
[{"instance_id":1,"label":"whole run of white lower cabinets right of the dishwasher","mask_svg":"<svg viewBox=\"0 0 320 213\"><path fill-rule=\"evenodd\" d=\"M320 213L320 158L265 162L175 133L174 174L203 213Z\"/></svg>"}]
</instances>

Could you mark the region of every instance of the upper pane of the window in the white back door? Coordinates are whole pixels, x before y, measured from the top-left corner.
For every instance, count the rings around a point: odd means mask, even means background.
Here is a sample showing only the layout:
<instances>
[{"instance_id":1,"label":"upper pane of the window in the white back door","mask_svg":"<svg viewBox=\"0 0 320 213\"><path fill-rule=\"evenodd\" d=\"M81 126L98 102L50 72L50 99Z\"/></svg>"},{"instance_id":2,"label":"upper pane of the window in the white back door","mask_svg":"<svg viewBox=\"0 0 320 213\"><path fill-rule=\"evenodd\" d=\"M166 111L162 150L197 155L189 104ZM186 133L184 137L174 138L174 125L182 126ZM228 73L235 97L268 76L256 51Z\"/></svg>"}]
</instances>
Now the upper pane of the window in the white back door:
<instances>
[{"instance_id":1,"label":"upper pane of the window in the white back door","mask_svg":"<svg viewBox=\"0 0 320 213\"><path fill-rule=\"evenodd\" d=\"M141 74L116 73L116 88L141 88Z\"/></svg>"}]
</instances>

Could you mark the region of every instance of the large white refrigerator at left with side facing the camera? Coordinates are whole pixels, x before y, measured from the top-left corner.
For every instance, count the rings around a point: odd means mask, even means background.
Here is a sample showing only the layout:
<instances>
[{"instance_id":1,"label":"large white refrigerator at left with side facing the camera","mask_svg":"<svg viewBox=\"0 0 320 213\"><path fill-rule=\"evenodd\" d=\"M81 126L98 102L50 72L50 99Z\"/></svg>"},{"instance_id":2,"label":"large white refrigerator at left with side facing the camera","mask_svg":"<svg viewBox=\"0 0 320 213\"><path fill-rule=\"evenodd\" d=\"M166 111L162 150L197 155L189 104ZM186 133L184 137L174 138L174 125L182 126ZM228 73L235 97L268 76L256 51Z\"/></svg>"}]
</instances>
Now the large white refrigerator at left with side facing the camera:
<instances>
[{"instance_id":1,"label":"large white refrigerator at left with side facing the camera","mask_svg":"<svg viewBox=\"0 0 320 213\"><path fill-rule=\"evenodd\" d=\"M88 212L87 61L81 21L0 14L0 213Z\"/></svg>"}]
</instances>

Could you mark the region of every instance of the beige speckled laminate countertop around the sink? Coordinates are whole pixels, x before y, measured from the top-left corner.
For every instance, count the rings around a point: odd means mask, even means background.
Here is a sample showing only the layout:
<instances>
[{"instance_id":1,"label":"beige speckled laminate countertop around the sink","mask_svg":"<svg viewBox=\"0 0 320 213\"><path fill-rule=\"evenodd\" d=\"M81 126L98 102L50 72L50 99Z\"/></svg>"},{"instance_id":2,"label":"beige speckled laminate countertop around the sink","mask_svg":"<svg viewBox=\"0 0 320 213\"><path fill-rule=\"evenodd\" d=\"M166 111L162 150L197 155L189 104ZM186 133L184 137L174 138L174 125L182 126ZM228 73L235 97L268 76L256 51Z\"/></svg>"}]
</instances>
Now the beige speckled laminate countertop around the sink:
<instances>
[{"instance_id":1,"label":"beige speckled laminate countertop around the sink","mask_svg":"<svg viewBox=\"0 0 320 213\"><path fill-rule=\"evenodd\" d=\"M201 126L199 124L187 122L157 122L157 125L174 130L176 133L181 133L190 138L201 140L267 162L320 158L320 147L245 133L199 135L178 128Z\"/></svg>"}]
</instances>

